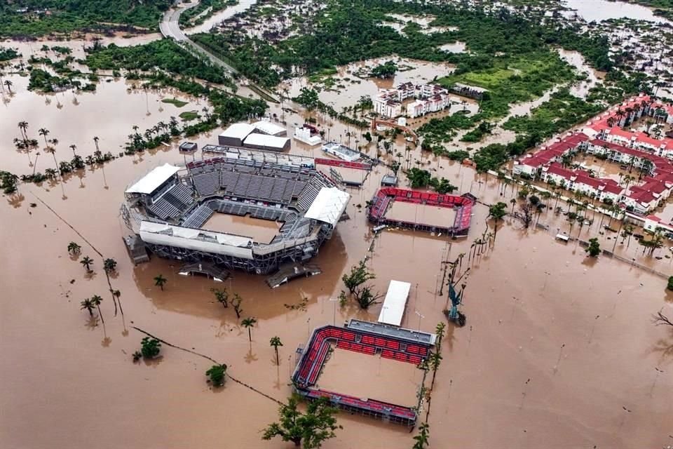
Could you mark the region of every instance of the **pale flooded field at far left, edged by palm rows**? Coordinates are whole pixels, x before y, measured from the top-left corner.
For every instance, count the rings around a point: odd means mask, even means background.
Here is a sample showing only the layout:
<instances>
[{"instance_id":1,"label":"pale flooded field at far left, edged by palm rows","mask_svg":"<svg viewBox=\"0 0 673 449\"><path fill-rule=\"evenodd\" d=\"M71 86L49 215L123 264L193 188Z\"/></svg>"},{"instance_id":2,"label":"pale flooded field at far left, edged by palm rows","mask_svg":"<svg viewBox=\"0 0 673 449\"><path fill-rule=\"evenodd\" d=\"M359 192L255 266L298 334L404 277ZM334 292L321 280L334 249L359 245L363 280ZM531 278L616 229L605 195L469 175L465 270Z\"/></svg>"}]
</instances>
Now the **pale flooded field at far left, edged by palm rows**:
<instances>
[{"instance_id":1,"label":"pale flooded field at far left, edged by palm rows","mask_svg":"<svg viewBox=\"0 0 673 449\"><path fill-rule=\"evenodd\" d=\"M201 112L209 107L208 102L173 89L148 90L134 88L134 83L124 79L102 78L97 83L95 93L62 93L38 94L27 90L28 78L8 76L13 82L13 93L2 93L4 114L8 119L0 121L0 165L5 170L18 174L32 173L33 165L38 157L37 171L52 167L49 158L37 156L43 153L44 139L39 135L40 128L49 131L48 139L56 138L56 158L59 160L72 158L70 145L76 145L76 153L82 157L93 154L96 150L94 137L99 138L98 146L102 152L118 154L128 135L133 133L133 126L138 126L140 133L152 128L160 121L168 123L172 116L179 119L179 114L186 111ZM177 98L188 102L183 107L176 107L161 100ZM10 116L12 118L10 118ZM13 144L14 138L20 138L21 131L17 127L19 121L28 122L27 133L30 138L39 142L39 148L30 152L18 151Z\"/></svg>"}]
</instances>

